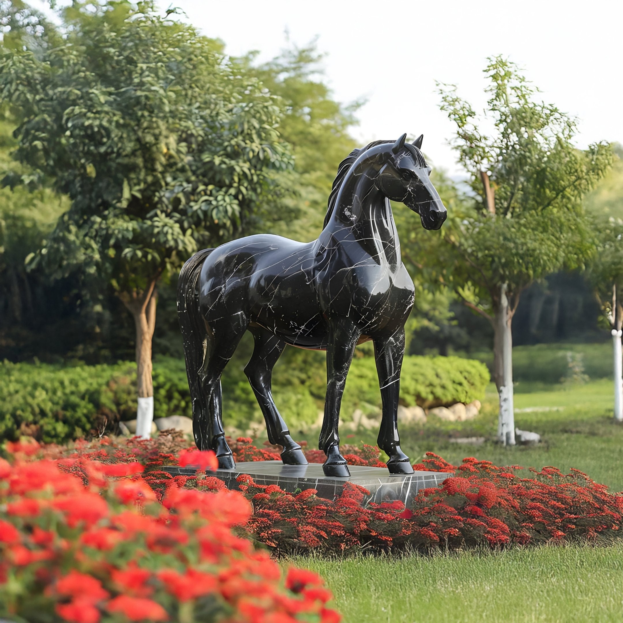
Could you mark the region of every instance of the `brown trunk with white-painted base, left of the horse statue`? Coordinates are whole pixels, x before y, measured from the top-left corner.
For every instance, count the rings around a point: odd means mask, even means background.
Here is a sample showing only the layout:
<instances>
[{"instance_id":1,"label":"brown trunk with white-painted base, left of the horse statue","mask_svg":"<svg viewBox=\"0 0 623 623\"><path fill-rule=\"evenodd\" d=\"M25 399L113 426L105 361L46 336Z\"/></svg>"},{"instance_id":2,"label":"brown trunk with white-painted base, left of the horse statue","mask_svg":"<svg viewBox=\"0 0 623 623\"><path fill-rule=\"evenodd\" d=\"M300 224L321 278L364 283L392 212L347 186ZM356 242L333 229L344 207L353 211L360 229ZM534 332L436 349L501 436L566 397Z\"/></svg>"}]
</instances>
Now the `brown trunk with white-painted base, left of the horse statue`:
<instances>
[{"instance_id":1,"label":"brown trunk with white-painted base, left of the horse statue","mask_svg":"<svg viewBox=\"0 0 623 623\"><path fill-rule=\"evenodd\" d=\"M136 435L143 439L151 436L154 417L154 391L151 379L151 338L156 327L156 282L144 292L121 293L119 298L130 311L136 327Z\"/></svg>"}]
</instances>

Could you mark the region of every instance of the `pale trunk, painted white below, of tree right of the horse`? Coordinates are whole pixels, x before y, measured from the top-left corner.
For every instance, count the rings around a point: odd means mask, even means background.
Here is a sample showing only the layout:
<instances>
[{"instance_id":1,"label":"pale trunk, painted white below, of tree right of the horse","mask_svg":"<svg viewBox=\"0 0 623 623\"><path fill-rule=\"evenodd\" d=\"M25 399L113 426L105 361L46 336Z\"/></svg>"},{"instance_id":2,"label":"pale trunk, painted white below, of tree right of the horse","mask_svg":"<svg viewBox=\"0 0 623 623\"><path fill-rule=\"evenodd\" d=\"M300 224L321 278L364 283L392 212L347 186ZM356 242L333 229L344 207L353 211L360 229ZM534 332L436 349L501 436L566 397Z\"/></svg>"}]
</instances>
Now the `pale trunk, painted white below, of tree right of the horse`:
<instances>
[{"instance_id":1,"label":"pale trunk, painted white below, of tree right of the horse","mask_svg":"<svg viewBox=\"0 0 623 623\"><path fill-rule=\"evenodd\" d=\"M508 313L506 283L500 292L500 309L496 321L502 342L502 385L499 388L500 414L498 416L498 439L504 445L515 445L515 409L513 406L513 333Z\"/></svg>"}]
</instances>

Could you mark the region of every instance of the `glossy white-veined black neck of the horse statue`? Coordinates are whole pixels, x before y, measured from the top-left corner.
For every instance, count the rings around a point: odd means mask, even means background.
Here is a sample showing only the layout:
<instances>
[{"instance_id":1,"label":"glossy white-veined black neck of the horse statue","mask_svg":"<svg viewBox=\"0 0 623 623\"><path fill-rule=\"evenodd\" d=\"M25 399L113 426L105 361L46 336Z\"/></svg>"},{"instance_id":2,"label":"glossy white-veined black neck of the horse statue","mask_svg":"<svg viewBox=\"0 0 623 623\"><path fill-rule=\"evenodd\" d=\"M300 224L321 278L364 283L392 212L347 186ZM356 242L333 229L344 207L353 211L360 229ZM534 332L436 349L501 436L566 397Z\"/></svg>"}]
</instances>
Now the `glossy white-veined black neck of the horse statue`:
<instances>
[{"instance_id":1,"label":"glossy white-veined black neck of the horse statue","mask_svg":"<svg viewBox=\"0 0 623 623\"><path fill-rule=\"evenodd\" d=\"M347 230L379 264L398 267L402 260L396 224L389 199L374 183L377 173L374 167L356 167L346 174L324 231L338 235Z\"/></svg>"}]
</instances>

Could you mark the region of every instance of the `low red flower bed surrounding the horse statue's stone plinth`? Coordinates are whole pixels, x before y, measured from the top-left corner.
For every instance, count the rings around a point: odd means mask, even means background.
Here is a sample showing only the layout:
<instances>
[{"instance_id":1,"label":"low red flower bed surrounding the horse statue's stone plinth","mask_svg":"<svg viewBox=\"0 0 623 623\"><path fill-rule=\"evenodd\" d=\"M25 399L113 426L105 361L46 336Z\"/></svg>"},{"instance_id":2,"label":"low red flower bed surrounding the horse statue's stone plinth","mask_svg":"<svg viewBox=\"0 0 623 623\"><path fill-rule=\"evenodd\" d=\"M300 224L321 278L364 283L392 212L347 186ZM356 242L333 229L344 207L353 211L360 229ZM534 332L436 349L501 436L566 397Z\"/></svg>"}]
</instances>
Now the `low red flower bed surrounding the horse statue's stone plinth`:
<instances>
[{"instance_id":1,"label":"low red flower bed surrounding the horse statue's stone plinth","mask_svg":"<svg viewBox=\"0 0 623 623\"><path fill-rule=\"evenodd\" d=\"M159 470L161 465L197 464L201 453L182 450L175 435L156 440L138 439L77 444L74 449L44 447L43 455L65 457L72 452L82 459L145 465L140 475L166 500L169 489L220 491L221 480L199 473L177 476ZM232 442L237 460L277 458L270 447L257 449L249 439ZM350 462L380 464L375 447L354 449ZM308 451L308 460L313 459ZM317 457L323 459L324 457ZM431 551L473 547L500 548L572 541L607 542L621 533L623 497L609 493L585 474L563 474L546 467L525 472L519 467L498 467L488 461L464 459L450 465L429 453L416 469L454 472L439 488L421 490L411 510L401 502L361 502L366 490L348 484L334 502L318 498L315 490L292 495L276 485L259 485L248 475L239 477L244 497L253 513L244 524L255 540L276 554L316 553L333 555L347 551ZM138 476L137 476L138 478Z\"/></svg>"}]
</instances>

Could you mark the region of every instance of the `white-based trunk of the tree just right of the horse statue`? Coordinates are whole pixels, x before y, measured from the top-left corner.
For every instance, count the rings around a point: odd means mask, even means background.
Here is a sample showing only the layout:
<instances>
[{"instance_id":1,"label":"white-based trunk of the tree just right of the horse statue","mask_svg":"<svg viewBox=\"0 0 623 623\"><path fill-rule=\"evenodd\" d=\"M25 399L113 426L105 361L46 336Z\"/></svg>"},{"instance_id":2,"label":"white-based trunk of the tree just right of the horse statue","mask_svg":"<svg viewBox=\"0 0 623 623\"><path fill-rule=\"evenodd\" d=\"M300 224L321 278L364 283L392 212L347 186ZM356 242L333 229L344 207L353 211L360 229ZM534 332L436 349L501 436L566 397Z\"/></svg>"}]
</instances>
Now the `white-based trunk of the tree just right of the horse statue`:
<instances>
[{"instance_id":1,"label":"white-based trunk of the tree just right of the horse statue","mask_svg":"<svg viewBox=\"0 0 623 623\"><path fill-rule=\"evenodd\" d=\"M506 297L506 283L500 287L500 303L493 321L493 380L500 396L498 439L504 445L515 445L515 412L513 408L513 313Z\"/></svg>"}]
</instances>

